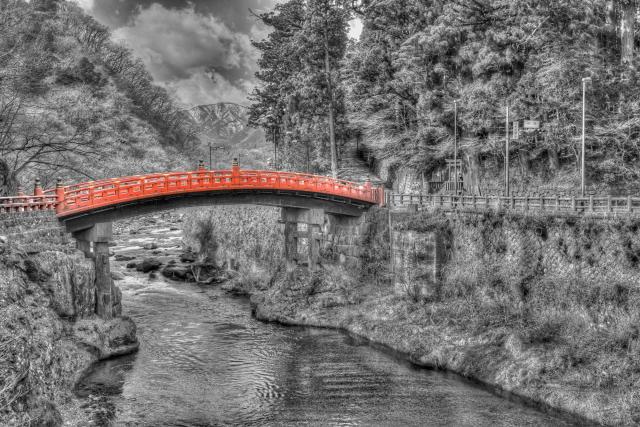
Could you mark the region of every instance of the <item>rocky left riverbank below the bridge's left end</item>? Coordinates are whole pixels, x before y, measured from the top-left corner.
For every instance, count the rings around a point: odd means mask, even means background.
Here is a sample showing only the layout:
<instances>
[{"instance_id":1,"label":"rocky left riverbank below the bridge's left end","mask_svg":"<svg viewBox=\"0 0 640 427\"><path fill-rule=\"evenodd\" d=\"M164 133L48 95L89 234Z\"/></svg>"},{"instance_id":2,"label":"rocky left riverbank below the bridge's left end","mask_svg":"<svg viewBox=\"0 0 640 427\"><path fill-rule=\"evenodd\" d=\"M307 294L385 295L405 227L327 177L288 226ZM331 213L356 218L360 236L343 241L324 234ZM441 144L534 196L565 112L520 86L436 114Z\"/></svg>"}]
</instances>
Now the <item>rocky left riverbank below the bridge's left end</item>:
<instances>
[{"instance_id":1,"label":"rocky left riverbank below the bridge's left end","mask_svg":"<svg viewBox=\"0 0 640 427\"><path fill-rule=\"evenodd\" d=\"M97 361L136 351L135 324L95 316L93 262L54 216L7 218L0 234L0 424L89 425L73 389Z\"/></svg>"}]
</instances>

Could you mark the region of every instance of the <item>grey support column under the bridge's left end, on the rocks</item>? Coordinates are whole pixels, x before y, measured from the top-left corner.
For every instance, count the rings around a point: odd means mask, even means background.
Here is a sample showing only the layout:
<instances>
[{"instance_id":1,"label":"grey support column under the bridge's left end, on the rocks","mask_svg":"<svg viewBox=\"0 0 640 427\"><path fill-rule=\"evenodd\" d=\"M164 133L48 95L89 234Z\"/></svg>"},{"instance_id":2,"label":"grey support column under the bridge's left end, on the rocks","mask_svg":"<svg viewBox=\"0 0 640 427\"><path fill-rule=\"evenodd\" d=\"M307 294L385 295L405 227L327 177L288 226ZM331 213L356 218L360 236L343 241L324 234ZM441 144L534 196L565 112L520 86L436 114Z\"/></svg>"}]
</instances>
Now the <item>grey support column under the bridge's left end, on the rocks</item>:
<instances>
[{"instance_id":1,"label":"grey support column under the bridge's left end, on the rocks","mask_svg":"<svg viewBox=\"0 0 640 427\"><path fill-rule=\"evenodd\" d=\"M95 224L73 233L77 247L88 258L93 258L96 270L96 314L105 320L113 318L113 279L109 265L109 241L113 237L110 222ZM93 243L93 252L91 252Z\"/></svg>"}]
</instances>

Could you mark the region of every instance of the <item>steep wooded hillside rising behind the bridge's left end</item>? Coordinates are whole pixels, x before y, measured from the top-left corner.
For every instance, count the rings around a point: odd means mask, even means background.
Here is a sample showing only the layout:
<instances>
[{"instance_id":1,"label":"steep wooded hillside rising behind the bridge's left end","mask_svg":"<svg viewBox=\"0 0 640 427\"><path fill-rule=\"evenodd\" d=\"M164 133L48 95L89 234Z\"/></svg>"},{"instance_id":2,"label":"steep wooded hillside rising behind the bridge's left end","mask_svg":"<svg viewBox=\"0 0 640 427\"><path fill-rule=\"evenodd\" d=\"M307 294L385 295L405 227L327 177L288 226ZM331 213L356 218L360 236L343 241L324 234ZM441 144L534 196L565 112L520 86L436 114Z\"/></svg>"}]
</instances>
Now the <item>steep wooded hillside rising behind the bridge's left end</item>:
<instances>
[{"instance_id":1,"label":"steep wooded hillside rising behind the bridge's left end","mask_svg":"<svg viewBox=\"0 0 640 427\"><path fill-rule=\"evenodd\" d=\"M0 3L0 196L191 168L192 130L139 59L66 0Z\"/></svg>"}]
</instances>

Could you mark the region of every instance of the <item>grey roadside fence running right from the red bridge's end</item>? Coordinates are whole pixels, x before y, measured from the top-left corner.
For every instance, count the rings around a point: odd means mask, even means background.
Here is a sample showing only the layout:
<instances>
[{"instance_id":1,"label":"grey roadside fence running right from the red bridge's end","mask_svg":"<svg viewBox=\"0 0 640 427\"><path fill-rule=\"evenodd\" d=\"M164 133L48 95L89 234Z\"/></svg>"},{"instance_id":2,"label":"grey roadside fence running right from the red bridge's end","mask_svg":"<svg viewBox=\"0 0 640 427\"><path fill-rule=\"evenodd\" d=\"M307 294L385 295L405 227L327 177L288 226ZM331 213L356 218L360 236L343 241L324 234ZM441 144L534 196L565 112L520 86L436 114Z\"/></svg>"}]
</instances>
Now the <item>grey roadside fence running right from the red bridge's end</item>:
<instances>
[{"instance_id":1,"label":"grey roadside fence running right from the red bridge's end","mask_svg":"<svg viewBox=\"0 0 640 427\"><path fill-rule=\"evenodd\" d=\"M389 195L391 207L422 206L441 210L510 210L569 213L637 213L640 214L640 198L637 197L496 197L455 196L434 194Z\"/></svg>"}]
</instances>

